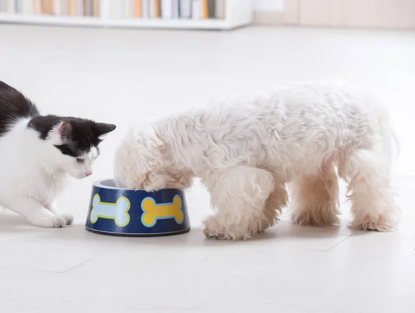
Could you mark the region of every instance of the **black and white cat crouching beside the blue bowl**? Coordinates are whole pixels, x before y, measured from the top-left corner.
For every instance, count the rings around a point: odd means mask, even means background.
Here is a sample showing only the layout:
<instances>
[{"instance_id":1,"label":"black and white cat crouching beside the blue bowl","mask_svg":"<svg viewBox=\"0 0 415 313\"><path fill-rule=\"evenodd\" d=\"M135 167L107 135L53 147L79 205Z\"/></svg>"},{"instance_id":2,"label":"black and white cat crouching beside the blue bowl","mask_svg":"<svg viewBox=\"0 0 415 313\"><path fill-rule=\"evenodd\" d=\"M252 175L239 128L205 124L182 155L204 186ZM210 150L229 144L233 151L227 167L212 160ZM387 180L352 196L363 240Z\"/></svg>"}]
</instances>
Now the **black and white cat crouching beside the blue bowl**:
<instances>
[{"instance_id":1,"label":"black and white cat crouching beside the blue bowl","mask_svg":"<svg viewBox=\"0 0 415 313\"><path fill-rule=\"evenodd\" d=\"M54 201L67 174L91 175L102 136L116 125L77 117L40 115L35 104L0 82L0 206L33 225L64 227L73 216Z\"/></svg>"}]
</instances>

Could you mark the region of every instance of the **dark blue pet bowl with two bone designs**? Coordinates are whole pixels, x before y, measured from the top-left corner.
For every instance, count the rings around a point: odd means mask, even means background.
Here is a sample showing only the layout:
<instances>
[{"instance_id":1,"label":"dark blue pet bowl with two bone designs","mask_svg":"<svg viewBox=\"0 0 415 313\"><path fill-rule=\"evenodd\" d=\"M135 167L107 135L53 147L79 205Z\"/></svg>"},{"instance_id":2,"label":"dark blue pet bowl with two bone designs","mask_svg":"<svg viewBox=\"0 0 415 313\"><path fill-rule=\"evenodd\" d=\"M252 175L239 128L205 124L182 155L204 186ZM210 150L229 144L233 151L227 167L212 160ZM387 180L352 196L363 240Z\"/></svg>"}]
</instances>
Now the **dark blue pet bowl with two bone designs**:
<instances>
[{"instance_id":1,"label":"dark blue pet bowl with two bone designs","mask_svg":"<svg viewBox=\"0 0 415 313\"><path fill-rule=\"evenodd\" d=\"M113 236L169 236L190 231L185 193L117 188L113 180L93 183L86 229Z\"/></svg>"}]
</instances>

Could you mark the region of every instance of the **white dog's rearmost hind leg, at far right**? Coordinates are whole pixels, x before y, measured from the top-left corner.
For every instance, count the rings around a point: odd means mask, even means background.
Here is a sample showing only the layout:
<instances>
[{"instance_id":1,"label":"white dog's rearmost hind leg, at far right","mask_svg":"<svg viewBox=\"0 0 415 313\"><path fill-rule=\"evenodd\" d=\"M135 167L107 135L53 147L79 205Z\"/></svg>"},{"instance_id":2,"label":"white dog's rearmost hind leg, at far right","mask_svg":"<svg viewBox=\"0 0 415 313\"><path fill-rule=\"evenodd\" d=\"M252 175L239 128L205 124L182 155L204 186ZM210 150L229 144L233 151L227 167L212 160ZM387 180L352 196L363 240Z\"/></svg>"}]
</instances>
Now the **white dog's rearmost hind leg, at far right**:
<instances>
[{"instance_id":1,"label":"white dog's rearmost hind leg, at far right","mask_svg":"<svg viewBox=\"0 0 415 313\"><path fill-rule=\"evenodd\" d=\"M351 198L351 227L392 231L400 210L391 189L389 163L380 150L360 150L342 164L340 176L346 180Z\"/></svg>"}]
</instances>

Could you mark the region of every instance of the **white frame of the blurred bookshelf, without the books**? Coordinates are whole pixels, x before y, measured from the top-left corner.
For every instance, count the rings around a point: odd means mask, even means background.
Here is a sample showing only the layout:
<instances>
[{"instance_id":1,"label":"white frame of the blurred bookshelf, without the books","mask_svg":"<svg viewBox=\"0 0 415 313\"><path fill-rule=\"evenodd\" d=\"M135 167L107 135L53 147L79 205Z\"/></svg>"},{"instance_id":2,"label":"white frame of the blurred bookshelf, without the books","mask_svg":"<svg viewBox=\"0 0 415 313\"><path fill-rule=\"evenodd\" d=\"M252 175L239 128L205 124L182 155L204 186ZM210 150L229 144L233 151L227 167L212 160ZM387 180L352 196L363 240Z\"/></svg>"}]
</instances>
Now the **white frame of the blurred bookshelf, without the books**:
<instances>
[{"instance_id":1,"label":"white frame of the blurred bookshelf, without the books","mask_svg":"<svg viewBox=\"0 0 415 313\"><path fill-rule=\"evenodd\" d=\"M23 0L30 1L30 0ZM89 26L111 28L165 28L194 30L231 30L252 23L251 0L226 0L224 19L163 19L163 18L123 18L110 17L110 1L101 0L100 17L27 15L0 12L0 23L22 23L55 26Z\"/></svg>"}]
</instances>

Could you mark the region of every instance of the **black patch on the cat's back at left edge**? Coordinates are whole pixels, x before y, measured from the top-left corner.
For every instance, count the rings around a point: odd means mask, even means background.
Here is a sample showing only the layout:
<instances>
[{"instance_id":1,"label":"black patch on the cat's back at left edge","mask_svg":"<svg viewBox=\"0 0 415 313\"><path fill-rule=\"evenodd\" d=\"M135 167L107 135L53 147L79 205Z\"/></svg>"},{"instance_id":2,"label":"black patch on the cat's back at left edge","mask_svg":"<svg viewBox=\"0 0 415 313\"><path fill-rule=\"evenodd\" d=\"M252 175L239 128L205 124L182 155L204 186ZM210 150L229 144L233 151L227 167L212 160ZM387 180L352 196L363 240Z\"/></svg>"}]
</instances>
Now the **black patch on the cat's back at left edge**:
<instances>
[{"instance_id":1,"label":"black patch on the cat's back at left edge","mask_svg":"<svg viewBox=\"0 0 415 313\"><path fill-rule=\"evenodd\" d=\"M35 104L15 88L0 81L0 137L12 128L16 121L39 115Z\"/></svg>"}]
</instances>

